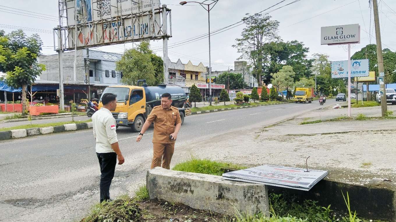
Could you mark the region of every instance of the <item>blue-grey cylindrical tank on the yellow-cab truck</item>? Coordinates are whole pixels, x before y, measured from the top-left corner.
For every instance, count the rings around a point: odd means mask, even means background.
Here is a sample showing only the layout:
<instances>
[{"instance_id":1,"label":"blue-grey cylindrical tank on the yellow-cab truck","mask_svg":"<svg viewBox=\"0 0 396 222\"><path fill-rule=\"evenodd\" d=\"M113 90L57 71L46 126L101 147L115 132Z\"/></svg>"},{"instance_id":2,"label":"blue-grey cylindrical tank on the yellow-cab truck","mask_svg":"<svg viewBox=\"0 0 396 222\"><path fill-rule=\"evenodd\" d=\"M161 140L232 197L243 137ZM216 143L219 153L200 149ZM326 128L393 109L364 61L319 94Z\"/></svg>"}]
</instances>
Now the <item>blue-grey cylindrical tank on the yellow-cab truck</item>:
<instances>
[{"instance_id":1,"label":"blue-grey cylindrical tank on the yellow-cab truck","mask_svg":"<svg viewBox=\"0 0 396 222\"><path fill-rule=\"evenodd\" d=\"M145 87L146 93L146 102L151 107L161 105L161 96L162 94L168 92L172 96L172 105L174 107L182 108L184 102L186 102L187 97L183 88L176 86L166 86L166 85L158 85L156 87Z\"/></svg>"}]
</instances>

